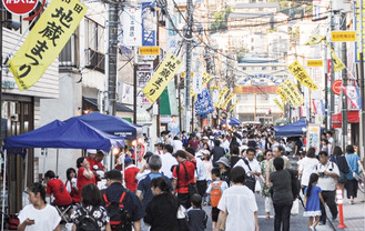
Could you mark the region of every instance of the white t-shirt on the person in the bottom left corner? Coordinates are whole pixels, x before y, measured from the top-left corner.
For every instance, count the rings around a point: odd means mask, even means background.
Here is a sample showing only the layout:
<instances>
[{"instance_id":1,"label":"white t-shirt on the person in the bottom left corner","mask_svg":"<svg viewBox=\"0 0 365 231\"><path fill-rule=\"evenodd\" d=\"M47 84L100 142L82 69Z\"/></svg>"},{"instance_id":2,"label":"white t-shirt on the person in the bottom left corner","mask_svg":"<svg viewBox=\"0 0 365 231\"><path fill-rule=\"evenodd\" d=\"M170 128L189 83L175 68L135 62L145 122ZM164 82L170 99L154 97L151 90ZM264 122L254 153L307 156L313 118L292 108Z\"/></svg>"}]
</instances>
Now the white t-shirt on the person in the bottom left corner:
<instances>
[{"instance_id":1,"label":"white t-shirt on the person in the bottom left corner","mask_svg":"<svg viewBox=\"0 0 365 231\"><path fill-rule=\"evenodd\" d=\"M26 205L19 212L19 222L24 222L28 218L34 219L34 224L27 225L26 231L53 231L61 221L61 217L54 207L45 204L44 209L38 210L33 204Z\"/></svg>"}]
</instances>

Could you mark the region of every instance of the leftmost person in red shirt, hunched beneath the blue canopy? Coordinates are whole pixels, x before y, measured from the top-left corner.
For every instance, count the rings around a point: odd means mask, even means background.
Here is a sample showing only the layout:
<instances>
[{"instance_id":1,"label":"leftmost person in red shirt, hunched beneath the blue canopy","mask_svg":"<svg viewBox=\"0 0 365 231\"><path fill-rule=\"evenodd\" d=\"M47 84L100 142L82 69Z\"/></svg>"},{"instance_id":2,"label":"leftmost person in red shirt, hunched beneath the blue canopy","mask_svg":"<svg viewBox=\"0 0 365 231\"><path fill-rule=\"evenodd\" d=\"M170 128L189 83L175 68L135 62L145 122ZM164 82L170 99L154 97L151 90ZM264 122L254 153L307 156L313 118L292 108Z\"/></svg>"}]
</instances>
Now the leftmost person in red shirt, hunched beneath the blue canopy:
<instances>
[{"instance_id":1,"label":"leftmost person in red shirt, hunched beneath the blue canopy","mask_svg":"<svg viewBox=\"0 0 365 231\"><path fill-rule=\"evenodd\" d=\"M44 180L47 182L47 195L53 194L54 197L52 202L53 205L64 207L72 203L72 198L65 189L64 183L60 179L55 178L53 171L50 170L45 172Z\"/></svg>"}]
</instances>

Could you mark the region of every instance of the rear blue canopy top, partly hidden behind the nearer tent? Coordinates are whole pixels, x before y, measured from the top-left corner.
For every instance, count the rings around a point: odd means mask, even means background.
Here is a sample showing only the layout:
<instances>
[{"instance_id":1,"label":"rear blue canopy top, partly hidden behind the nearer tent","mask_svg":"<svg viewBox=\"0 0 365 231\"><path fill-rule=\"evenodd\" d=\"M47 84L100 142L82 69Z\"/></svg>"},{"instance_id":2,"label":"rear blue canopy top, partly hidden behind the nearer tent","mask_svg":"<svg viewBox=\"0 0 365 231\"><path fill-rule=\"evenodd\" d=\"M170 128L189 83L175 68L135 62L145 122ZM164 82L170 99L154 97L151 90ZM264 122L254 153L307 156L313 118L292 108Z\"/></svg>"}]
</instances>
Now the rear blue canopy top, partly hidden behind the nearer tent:
<instances>
[{"instance_id":1,"label":"rear blue canopy top, partly hidden behind the nearer tent","mask_svg":"<svg viewBox=\"0 0 365 231\"><path fill-rule=\"evenodd\" d=\"M142 127L133 124L126 120L118 117L102 114L99 112L92 112L89 114L83 114L79 117L73 117L64 122L70 122L73 120L80 120L95 129L103 132L108 132L118 137L123 137L125 139L136 139L142 135Z\"/></svg>"}]
</instances>

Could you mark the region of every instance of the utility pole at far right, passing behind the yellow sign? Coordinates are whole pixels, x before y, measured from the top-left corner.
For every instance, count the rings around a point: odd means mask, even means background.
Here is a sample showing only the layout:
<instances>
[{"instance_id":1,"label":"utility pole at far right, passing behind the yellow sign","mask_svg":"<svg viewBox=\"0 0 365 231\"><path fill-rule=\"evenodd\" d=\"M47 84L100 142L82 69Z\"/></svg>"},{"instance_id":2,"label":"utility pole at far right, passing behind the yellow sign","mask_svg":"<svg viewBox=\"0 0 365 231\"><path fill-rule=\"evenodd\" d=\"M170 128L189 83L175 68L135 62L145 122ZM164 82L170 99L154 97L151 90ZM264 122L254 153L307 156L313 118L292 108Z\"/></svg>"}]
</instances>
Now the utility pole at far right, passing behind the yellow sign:
<instances>
[{"instance_id":1,"label":"utility pole at far right, passing behind the yellow sign","mask_svg":"<svg viewBox=\"0 0 365 231\"><path fill-rule=\"evenodd\" d=\"M342 28L346 30L346 12L342 12ZM347 53L346 42L342 42L342 60L345 67L347 67ZM344 88L347 86L347 69L342 70L342 84ZM347 144L347 98L344 90L342 90L342 150L346 149Z\"/></svg>"}]
</instances>

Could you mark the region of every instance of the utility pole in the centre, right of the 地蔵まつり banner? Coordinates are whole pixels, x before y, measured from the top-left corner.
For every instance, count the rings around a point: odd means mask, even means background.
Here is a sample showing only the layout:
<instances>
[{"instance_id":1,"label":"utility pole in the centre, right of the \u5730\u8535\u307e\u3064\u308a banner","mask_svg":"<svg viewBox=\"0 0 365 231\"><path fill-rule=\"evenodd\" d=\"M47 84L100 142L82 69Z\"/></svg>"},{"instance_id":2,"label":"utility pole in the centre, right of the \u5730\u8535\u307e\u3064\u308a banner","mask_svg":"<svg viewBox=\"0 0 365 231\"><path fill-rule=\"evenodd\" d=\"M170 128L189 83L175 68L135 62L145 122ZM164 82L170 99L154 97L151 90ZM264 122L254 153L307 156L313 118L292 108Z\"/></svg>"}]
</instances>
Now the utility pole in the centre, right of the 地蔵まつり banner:
<instances>
[{"instance_id":1,"label":"utility pole in the centre, right of the \u5730\u8535\u307e\u3064\u308a banner","mask_svg":"<svg viewBox=\"0 0 365 231\"><path fill-rule=\"evenodd\" d=\"M185 76L185 131L190 131L190 80L191 80L191 62L192 62L192 38L193 38L193 1L186 0L187 7L187 26L185 30L185 38L186 38L186 76ZM193 118L192 118L193 119Z\"/></svg>"}]
</instances>

